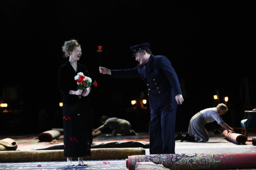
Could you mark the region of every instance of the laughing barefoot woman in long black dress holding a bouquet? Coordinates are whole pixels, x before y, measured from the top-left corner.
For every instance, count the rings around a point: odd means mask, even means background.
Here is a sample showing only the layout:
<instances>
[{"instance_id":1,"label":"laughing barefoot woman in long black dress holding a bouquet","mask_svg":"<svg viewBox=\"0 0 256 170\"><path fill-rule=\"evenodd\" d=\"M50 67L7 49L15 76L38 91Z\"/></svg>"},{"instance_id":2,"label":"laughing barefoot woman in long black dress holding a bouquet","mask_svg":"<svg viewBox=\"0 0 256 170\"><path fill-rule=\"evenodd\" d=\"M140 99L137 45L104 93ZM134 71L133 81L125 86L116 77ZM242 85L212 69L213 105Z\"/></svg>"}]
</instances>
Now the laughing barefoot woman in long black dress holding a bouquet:
<instances>
[{"instance_id":1,"label":"laughing barefoot woman in long black dress holding a bouquet","mask_svg":"<svg viewBox=\"0 0 256 170\"><path fill-rule=\"evenodd\" d=\"M76 40L65 41L62 49L64 57L69 58L66 64L60 66L58 75L59 91L64 95L64 156L67 157L67 166L74 166L72 157L78 157L78 164L84 166L87 163L83 162L83 156L91 156L90 144L93 141L88 98L91 89L77 89L74 77L80 72L89 75L86 66L78 62L82 51ZM79 95L82 97L79 98Z\"/></svg>"}]
</instances>

